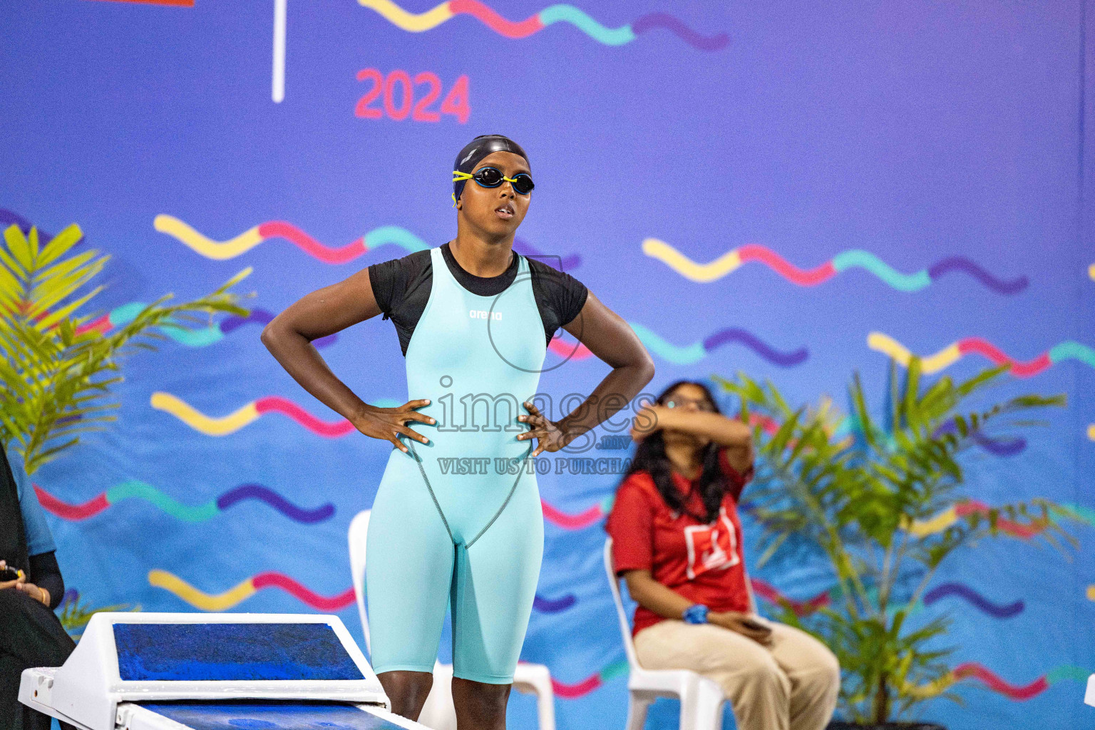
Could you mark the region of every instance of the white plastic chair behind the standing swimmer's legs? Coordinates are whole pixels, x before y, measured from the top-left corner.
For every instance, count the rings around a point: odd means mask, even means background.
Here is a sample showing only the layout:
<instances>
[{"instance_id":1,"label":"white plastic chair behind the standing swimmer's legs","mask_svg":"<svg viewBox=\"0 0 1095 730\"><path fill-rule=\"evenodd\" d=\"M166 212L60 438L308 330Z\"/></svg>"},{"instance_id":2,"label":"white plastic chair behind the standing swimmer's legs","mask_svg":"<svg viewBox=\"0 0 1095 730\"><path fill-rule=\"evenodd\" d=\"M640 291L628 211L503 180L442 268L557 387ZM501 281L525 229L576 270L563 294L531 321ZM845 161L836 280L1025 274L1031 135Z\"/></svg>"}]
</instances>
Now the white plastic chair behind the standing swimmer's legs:
<instances>
[{"instance_id":1,"label":"white plastic chair behind the standing swimmer's legs","mask_svg":"<svg viewBox=\"0 0 1095 730\"><path fill-rule=\"evenodd\" d=\"M349 523L348 538L354 596L357 599L357 613L361 617L365 648L371 660L369 618L365 612L365 544L369 532L369 515L370 510L362 510L354 515ZM514 672L514 688L522 694L535 695L540 730L555 730L555 692L548 668L519 662ZM433 730L457 730L457 711L452 706L452 664L434 661L434 686L423 705L418 722Z\"/></svg>"}]
</instances>

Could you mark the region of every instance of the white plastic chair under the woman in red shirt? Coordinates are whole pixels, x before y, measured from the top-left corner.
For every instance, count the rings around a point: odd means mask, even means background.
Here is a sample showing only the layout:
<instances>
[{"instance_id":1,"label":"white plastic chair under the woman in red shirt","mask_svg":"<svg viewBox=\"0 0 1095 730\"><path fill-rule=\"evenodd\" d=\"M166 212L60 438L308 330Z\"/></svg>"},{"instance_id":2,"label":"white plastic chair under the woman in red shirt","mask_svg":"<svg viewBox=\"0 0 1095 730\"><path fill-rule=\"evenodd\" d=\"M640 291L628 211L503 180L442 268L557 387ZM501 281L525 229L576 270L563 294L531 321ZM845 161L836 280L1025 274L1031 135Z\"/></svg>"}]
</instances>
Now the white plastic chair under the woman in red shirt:
<instances>
[{"instance_id":1,"label":"white plastic chair under the woman in red shirt","mask_svg":"<svg viewBox=\"0 0 1095 730\"><path fill-rule=\"evenodd\" d=\"M687 669L649 670L643 669L635 654L635 642L631 636L631 623L623 610L620 596L620 580L612 565L612 538L604 542L604 571L612 589L612 600L620 617L620 633L623 648L627 653L631 675L627 677L627 726L626 730L643 730L646 710L658 697L678 697L681 702L680 730L722 730L723 688L707 677Z\"/></svg>"}]
</instances>

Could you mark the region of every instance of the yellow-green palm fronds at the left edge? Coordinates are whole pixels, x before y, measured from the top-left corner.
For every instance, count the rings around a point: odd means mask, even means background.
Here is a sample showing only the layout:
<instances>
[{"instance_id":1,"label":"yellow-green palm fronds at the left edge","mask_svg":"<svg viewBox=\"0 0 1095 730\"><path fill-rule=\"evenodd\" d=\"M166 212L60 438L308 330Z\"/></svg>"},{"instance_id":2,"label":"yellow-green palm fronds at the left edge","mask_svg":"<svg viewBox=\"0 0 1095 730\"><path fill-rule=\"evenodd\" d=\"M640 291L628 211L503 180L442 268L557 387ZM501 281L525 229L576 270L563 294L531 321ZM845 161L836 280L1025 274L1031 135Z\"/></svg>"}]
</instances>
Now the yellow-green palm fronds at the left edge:
<instances>
[{"instance_id":1,"label":"yellow-green palm fronds at the left edge","mask_svg":"<svg viewBox=\"0 0 1095 730\"><path fill-rule=\"evenodd\" d=\"M230 291L246 268L206 297L174 303L164 294L125 322L89 314L110 256L76 248L82 237L73 223L43 243L35 228L13 224L0 245L0 445L14 441L28 474L115 419L108 396L128 354L152 349L164 328L208 326L215 312L249 313Z\"/></svg>"}]
</instances>

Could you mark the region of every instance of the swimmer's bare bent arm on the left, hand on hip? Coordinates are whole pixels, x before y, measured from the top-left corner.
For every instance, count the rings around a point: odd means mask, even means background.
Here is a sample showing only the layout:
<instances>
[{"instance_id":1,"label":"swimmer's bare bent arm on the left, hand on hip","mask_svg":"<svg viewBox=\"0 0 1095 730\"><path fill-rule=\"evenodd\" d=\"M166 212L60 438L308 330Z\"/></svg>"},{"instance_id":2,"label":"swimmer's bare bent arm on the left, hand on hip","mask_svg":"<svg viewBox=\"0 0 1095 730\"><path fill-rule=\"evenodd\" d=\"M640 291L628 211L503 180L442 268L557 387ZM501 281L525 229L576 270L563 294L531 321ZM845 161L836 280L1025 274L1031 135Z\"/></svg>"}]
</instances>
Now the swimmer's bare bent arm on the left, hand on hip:
<instances>
[{"instance_id":1,"label":"swimmer's bare bent arm on the left, hand on hip","mask_svg":"<svg viewBox=\"0 0 1095 730\"><path fill-rule=\"evenodd\" d=\"M313 339L333 335L378 314L380 306L372 296L369 269L364 268L290 304L266 325L262 340L306 391L341 414L361 433L391 441L406 453L407 448L397 438L400 433L423 443L429 442L425 436L404 426L408 421L434 422L429 416L415 410L428 401L408 401L397 408L370 406L331 372L312 345Z\"/></svg>"}]
</instances>

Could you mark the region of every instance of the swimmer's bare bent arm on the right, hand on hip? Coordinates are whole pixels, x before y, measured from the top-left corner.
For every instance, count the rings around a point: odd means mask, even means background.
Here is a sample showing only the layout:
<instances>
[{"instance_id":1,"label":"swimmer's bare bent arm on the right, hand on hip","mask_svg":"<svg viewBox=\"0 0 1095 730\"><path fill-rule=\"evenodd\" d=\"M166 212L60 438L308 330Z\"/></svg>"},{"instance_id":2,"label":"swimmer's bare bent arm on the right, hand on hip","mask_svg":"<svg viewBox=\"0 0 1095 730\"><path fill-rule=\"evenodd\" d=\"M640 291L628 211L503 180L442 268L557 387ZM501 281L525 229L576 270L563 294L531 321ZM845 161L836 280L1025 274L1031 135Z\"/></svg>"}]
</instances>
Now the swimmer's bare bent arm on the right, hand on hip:
<instances>
[{"instance_id":1,"label":"swimmer's bare bent arm on the right, hand on hip","mask_svg":"<svg viewBox=\"0 0 1095 730\"><path fill-rule=\"evenodd\" d=\"M608 420L618 410L631 403L643 386L654 378L654 360L643 347L638 335L623 317L607 308L593 292L586 297L586 303L578 316L563 327L578 338L589 351L612 366L612 372L593 389L581 405L565 418L549 421L532 404L526 404L528 421L532 430L521 433L518 439L538 439L531 455L542 451L558 451L574 439Z\"/></svg>"}]
</instances>

